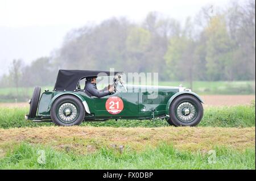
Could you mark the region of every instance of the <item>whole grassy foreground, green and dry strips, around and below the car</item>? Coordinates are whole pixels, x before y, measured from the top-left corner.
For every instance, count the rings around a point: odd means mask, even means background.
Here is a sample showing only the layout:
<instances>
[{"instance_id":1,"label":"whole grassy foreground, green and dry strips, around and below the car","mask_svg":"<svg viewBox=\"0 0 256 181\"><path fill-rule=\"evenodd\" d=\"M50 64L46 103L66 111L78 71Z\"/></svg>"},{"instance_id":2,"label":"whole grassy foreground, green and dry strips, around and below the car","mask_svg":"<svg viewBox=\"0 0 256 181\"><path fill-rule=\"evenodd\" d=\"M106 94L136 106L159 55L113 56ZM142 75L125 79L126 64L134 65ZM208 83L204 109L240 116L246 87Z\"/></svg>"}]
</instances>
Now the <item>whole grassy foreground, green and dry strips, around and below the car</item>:
<instances>
[{"instance_id":1,"label":"whole grassy foreground, green and dry strips, around and below the car","mask_svg":"<svg viewBox=\"0 0 256 181\"><path fill-rule=\"evenodd\" d=\"M207 107L197 127L158 120L24 120L0 107L0 169L255 169L255 102ZM43 161L43 162L42 162Z\"/></svg>"}]
</instances>

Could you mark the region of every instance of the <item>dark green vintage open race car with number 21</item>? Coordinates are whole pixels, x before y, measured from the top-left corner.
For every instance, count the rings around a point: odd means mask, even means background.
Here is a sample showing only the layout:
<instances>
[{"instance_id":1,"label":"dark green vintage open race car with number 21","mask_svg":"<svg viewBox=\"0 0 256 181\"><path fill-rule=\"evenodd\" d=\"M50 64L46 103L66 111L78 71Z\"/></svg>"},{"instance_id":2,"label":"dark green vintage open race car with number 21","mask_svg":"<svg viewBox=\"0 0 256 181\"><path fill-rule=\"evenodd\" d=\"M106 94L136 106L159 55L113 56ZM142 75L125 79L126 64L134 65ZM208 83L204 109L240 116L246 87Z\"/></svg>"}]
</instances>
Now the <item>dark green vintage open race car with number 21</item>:
<instances>
[{"instance_id":1,"label":"dark green vintage open race car with number 21","mask_svg":"<svg viewBox=\"0 0 256 181\"><path fill-rule=\"evenodd\" d=\"M59 70L53 91L45 90L40 96L40 87L35 87L25 118L53 121L63 126L109 119L166 119L174 126L200 123L203 100L190 89L146 86L144 91L145 86L125 85L122 74L117 71ZM80 82L86 77L110 75L114 75L114 92L110 95L96 98L81 88Z\"/></svg>"}]
</instances>

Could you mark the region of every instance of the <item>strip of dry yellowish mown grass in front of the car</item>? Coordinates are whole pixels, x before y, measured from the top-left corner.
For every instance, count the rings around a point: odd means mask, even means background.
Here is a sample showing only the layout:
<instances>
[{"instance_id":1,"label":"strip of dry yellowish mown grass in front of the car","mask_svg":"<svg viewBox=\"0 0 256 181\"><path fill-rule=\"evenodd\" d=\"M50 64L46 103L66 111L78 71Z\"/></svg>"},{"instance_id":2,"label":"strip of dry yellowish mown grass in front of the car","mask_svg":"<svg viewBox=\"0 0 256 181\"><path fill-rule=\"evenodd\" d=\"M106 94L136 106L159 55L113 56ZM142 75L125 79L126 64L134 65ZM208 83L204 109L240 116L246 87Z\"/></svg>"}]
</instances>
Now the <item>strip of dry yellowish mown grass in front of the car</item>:
<instances>
[{"instance_id":1,"label":"strip of dry yellowish mown grass in front of the car","mask_svg":"<svg viewBox=\"0 0 256 181\"><path fill-rule=\"evenodd\" d=\"M0 129L0 149L6 145L26 141L31 144L51 145L57 149L69 147L85 153L101 146L125 145L135 150L157 146L161 142L173 144L180 150L210 150L226 146L236 150L255 148L255 127L39 127ZM88 150L90 148L90 150ZM91 150L93 148L93 150Z\"/></svg>"}]
</instances>

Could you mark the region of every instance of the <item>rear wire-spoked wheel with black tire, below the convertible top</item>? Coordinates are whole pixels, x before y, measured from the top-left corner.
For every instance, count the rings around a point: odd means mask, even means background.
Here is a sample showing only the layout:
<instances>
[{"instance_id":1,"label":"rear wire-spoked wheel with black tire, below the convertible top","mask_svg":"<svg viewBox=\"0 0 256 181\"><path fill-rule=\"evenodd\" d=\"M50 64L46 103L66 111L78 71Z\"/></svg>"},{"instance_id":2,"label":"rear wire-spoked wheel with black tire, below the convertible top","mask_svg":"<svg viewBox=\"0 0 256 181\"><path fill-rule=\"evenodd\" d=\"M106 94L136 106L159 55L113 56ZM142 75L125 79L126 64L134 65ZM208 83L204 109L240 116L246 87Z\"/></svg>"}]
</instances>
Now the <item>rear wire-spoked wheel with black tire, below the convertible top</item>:
<instances>
[{"instance_id":1,"label":"rear wire-spoked wheel with black tire, below the convertible top","mask_svg":"<svg viewBox=\"0 0 256 181\"><path fill-rule=\"evenodd\" d=\"M71 112L70 115L65 111ZM51 119L60 126L70 127L80 125L85 117L84 106L80 99L73 95L63 95L57 98L51 107ZM70 120L68 120L70 119Z\"/></svg>"}]
</instances>

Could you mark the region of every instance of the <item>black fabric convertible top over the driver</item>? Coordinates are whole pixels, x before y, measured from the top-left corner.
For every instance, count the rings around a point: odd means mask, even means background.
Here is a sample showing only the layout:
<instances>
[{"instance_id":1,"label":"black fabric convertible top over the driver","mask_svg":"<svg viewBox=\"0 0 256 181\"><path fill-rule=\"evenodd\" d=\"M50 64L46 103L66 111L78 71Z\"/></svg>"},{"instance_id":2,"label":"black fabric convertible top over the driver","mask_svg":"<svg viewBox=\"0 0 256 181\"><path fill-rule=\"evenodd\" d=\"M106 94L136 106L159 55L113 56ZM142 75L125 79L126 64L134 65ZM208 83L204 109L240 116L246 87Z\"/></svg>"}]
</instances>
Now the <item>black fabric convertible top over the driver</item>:
<instances>
[{"instance_id":1,"label":"black fabric convertible top over the driver","mask_svg":"<svg viewBox=\"0 0 256 181\"><path fill-rule=\"evenodd\" d=\"M54 90L74 91L80 79L93 76L108 76L122 74L122 71L102 71L102 70L59 70Z\"/></svg>"}]
</instances>

